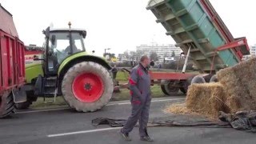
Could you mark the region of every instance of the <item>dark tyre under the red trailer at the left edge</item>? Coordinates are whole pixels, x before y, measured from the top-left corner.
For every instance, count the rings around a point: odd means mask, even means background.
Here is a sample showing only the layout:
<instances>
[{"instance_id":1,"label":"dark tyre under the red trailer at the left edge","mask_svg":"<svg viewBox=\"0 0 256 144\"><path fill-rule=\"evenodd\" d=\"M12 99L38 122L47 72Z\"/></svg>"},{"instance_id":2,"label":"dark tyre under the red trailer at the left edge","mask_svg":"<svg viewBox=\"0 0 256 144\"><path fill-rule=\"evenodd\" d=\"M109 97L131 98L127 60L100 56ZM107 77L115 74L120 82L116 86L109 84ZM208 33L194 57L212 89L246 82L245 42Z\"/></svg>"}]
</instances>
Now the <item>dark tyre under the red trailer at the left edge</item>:
<instances>
[{"instance_id":1,"label":"dark tyre under the red trailer at the left edge","mask_svg":"<svg viewBox=\"0 0 256 144\"><path fill-rule=\"evenodd\" d=\"M10 91L5 91L0 97L0 118L14 113L14 97Z\"/></svg>"}]
</instances>

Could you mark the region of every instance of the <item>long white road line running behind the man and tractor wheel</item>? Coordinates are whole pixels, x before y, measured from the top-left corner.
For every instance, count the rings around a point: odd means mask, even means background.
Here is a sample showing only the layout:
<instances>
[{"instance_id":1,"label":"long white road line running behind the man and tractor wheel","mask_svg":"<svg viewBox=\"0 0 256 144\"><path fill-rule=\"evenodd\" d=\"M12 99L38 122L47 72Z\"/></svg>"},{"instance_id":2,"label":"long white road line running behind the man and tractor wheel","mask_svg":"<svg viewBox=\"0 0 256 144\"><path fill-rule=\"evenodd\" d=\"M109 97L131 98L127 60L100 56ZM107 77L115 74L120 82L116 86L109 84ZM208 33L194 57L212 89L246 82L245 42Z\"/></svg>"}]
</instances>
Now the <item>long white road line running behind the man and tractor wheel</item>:
<instances>
[{"instance_id":1,"label":"long white road line running behind the man and tractor wheel","mask_svg":"<svg viewBox=\"0 0 256 144\"><path fill-rule=\"evenodd\" d=\"M177 100L184 100L185 98L173 98L173 99L153 99L151 102L170 102L170 101L177 101ZM110 103L106 106L122 106L122 105L130 105L130 102L121 102L121 103ZM30 111L19 111L15 114L29 114L29 113L39 113L39 112L47 112L47 111L57 111L57 110L69 110L70 107L64 108L57 108L57 109L50 109L50 110L30 110Z\"/></svg>"}]
</instances>

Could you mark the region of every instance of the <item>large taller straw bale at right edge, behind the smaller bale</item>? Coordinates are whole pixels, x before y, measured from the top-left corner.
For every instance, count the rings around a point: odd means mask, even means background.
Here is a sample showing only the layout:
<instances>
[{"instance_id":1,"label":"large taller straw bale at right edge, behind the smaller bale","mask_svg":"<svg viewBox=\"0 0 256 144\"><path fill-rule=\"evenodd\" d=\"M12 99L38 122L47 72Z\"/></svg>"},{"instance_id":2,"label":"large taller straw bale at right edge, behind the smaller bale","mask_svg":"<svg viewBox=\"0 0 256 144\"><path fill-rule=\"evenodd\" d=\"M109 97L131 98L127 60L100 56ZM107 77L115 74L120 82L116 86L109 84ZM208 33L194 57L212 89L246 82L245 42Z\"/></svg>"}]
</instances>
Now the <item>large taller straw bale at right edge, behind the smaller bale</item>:
<instances>
[{"instance_id":1,"label":"large taller straw bale at right edge, behind the smaller bale","mask_svg":"<svg viewBox=\"0 0 256 144\"><path fill-rule=\"evenodd\" d=\"M220 70L217 76L230 95L227 103L231 112L256 110L256 58Z\"/></svg>"}]
</instances>

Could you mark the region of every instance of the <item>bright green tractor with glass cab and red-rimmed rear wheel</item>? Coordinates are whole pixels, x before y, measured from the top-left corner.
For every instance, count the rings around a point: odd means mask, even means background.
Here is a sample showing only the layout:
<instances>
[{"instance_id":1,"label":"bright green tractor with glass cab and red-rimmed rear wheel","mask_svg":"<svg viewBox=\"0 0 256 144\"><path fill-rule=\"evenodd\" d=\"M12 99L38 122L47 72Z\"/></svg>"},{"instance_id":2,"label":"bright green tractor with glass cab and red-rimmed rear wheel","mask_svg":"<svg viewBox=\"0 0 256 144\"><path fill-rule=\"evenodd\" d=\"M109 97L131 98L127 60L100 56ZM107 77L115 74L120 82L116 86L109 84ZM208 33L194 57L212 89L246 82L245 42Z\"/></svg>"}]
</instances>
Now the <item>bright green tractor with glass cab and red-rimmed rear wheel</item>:
<instances>
[{"instance_id":1,"label":"bright green tractor with glass cab and red-rimmed rear wheel","mask_svg":"<svg viewBox=\"0 0 256 144\"><path fill-rule=\"evenodd\" d=\"M92 112L105 106L114 90L111 66L86 52L86 30L48 27L43 34L44 53L42 58L34 58L39 63L26 67L27 102L18 108L30 106L38 97L56 96L63 96L77 111Z\"/></svg>"}]
</instances>

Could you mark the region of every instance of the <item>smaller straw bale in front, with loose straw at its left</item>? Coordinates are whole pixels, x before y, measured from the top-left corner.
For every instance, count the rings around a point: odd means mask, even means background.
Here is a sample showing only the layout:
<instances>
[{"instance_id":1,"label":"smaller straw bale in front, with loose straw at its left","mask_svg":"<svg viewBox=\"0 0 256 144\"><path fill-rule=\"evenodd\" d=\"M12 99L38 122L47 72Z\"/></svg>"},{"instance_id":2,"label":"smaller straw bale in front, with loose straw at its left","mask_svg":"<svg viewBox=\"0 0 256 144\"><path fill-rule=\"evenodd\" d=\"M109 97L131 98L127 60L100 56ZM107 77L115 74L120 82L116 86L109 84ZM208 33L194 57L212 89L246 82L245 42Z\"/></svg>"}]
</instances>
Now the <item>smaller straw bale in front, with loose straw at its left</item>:
<instances>
[{"instance_id":1,"label":"smaller straw bale in front, with loose straw at its left","mask_svg":"<svg viewBox=\"0 0 256 144\"><path fill-rule=\"evenodd\" d=\"M229 112L226 94L218 82L193 84L186 96L186 108L199 114L218 117L219 111Z\"/></svg>"}]
</instances>

